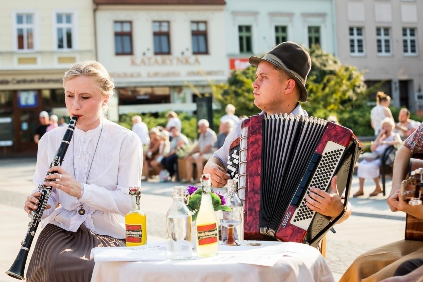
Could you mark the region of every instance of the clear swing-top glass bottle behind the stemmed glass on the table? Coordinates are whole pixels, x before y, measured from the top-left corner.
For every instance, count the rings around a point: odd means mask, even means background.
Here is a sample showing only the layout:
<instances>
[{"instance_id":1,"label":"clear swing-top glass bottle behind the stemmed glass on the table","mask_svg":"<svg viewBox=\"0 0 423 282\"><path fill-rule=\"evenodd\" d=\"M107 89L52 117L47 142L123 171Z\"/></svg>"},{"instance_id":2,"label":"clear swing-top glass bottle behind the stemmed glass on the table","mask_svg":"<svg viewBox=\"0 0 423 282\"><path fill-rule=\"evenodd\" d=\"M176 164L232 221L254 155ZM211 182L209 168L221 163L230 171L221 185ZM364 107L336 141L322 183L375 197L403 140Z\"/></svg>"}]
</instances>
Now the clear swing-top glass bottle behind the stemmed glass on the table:
<instances>
[{"instance_id":1,"label":"clear swing-top glass bottle behind the stemmed glass on the table","mask_svg":"<svg viewBox=\"0 0 423 282\"><path fill-rule=\"evenodd\" d=\"M232 209L232 211L239 211L241 214L241 224L234 227L235 240L244 240L244 207L242 201L236 193L236 182L233 179L228 179L225 186L226 191L223 192L223 196L226 199L226 206ZM228 228L221 225L222 230L222 241L226 241L228 238Z\"/></svg>"}]
</instances>

